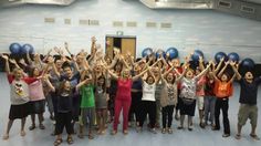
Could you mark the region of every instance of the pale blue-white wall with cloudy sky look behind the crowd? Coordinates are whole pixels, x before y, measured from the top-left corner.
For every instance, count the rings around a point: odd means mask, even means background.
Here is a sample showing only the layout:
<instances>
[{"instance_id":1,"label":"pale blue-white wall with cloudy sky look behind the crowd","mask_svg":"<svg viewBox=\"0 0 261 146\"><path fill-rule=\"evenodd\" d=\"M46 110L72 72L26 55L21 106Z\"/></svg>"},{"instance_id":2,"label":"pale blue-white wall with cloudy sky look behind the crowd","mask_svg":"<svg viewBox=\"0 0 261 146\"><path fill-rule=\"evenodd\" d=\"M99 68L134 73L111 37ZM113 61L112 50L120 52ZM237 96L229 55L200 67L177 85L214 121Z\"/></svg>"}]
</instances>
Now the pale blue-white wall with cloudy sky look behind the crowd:
<instances>
[{"instance_id":1,"label":"pale blue-white wall with cloudy sky look behind the crowd","mask_svg":"<svg viewBox=\"0 0 261 146\"><path fill-rule=\"evenodd\" d=\"M55 18L55 23L44 23ZM72 24L64 24L64 19ZM80 25L80 19L96 19L98 27ZM113 21L124 21L114 28ZM126 21L136 21L137 28L127 28ZM157 22L156 29L146 28L147 21ZM171 22L171 29L161 29L160 22ZM241 58L261 62L261 22L228 15L211 10L150 10L138 1L77 0L70 7L23 6L0 10L0 52L7 52L12 42L29 42L36 52L45 53L67 41L73 52L90 49L90 38L96 35L104 46L106 34L124 31L137 36L137 55L144 48L176 46L182 58L195 48L212 58L216 52L237 52Z\"/></svg>"}]
</instances>

